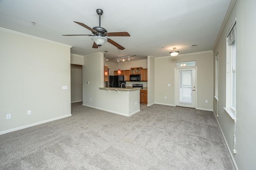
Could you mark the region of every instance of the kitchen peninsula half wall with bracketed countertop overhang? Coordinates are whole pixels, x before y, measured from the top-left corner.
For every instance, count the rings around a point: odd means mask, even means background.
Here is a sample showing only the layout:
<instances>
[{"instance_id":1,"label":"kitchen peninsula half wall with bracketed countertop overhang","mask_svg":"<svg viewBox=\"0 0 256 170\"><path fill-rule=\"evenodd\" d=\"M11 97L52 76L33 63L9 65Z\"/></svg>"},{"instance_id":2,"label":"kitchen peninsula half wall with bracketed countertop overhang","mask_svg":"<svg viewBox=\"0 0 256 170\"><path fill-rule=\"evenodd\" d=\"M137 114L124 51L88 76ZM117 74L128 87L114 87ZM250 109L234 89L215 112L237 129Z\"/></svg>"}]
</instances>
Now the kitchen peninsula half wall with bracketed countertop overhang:
<instances>
[{"instance_id":1,"label":"kitchen peninsula half wall with bracketed countertop overhang","mask_svg":"<svg viewBox=\"0 0 256 170\"><path fill-rule=\"evenodd\" d=\"M100 87L100 96L105 102L102 110L124 116L140 111L140 88Z\"/></svg>"}]
</instances>

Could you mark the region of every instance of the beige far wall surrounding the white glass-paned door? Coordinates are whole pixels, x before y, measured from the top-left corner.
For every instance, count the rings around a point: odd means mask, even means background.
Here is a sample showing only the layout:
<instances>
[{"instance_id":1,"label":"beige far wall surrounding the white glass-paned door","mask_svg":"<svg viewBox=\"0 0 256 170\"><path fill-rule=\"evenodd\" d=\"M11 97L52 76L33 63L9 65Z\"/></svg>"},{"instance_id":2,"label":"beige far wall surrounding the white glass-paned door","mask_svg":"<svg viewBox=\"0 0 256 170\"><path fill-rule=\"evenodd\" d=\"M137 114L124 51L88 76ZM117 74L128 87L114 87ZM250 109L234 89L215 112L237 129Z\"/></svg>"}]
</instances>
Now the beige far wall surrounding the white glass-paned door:
<instances>
[{"instance_id":1,"label":"beige far wall surrounding the white glass-paned door","mask_svg":"<svg viewBox=\"0 0 256 170\"><path fill-rule=\"evenodd\" d=\"M178 57L159 57L155 59L155 103L174 106L174 70L176 62L196 61L197 87L196 108L213 109L213 52L178 55ZM171 86L169 87L168 84ZM166 96L166 99L164 98ZM208 103L205 103L208 100Z\"/></svg>"}]
</instances>

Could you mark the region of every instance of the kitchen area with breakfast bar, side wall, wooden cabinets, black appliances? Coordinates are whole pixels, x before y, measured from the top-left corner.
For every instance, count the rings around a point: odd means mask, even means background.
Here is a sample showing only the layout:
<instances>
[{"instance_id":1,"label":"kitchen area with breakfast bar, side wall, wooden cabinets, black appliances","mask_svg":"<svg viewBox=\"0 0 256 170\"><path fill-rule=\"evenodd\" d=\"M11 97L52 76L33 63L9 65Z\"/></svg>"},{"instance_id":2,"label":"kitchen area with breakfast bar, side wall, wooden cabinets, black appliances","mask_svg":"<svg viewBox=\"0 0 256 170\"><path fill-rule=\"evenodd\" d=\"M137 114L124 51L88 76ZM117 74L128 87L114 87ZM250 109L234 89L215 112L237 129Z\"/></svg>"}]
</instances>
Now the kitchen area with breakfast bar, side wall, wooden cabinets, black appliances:
<instances>
[{"instance_id":1,"label":"kitchen area with breakfast bar, side wall, wooden cabinets, black appliances","mask_svg":"<svg viewBox=\"0 0 256 170\"><path fill-rule=\"evenodd\" d=\"M106 63L103 53L84 56L82 105L131 116L140 111L141 102L147 106L147 79L147 59Z\"/></svg>"}]
</instances>

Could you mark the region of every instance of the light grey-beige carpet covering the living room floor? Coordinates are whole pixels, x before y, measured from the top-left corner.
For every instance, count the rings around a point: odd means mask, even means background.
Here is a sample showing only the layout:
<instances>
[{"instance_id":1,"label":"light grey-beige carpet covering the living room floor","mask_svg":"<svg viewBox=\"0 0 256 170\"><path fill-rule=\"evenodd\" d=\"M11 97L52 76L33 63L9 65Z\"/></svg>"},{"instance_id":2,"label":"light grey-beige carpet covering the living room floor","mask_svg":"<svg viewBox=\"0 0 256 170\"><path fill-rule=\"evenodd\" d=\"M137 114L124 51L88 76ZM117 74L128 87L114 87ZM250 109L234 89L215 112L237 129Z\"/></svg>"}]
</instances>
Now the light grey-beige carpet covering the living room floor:
<instances>
[{"instance_id":1,"label":"light grey-beige carpet covering the living room floor","mask_svg":"<svg viewBox=\"0 0 256 170\"><path fill-rule=\"evenodd\" d=\"M0 135L0 169L234 170L211 111L152 105L131 117L72 116Z\"/></svg>"}]
</instances>

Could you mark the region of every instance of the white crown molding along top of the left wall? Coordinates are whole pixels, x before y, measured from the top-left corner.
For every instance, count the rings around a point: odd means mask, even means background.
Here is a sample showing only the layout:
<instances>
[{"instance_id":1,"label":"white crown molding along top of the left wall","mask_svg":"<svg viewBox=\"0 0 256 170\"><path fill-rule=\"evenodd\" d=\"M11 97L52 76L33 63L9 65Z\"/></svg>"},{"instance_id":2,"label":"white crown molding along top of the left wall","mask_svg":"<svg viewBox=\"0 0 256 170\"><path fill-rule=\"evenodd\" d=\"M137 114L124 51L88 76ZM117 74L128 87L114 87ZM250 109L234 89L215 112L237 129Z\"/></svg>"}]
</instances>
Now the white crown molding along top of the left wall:
<instances>
[{"instance_id":1,"label":"white crown molding along top of the left wall","mask_svg":"<svg viewBox=\"0 0 256 170\"><path fill-rule=\"evenodd\" d=\"M39 38L39 37L36 37L36 36L33 36L33 35L28 35L28 34L25 34L25 33L20 33L20 32L13 31L13 30L6 29L6 28L2 28L2 27L0 27L0 31L1 31L1 32L5 32L5 33L14 34L14 35L19 35L19 36L22 36L22 37L27 37L27 38L30 38L30 39L35 39L35 40L39 40L39 41L44 41L44 42L46 42L46 43L52 43L52 44L55 44L55 45L60 45L60 46L68 47L68 48L71 48L71 47L72 47L72 46L70 46L70 45L58 43L58 42L51 41L51 40L48 40L48 39Z\"/></svg>"}]
</instances>

